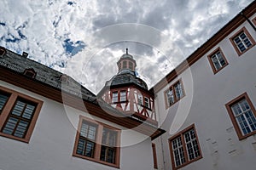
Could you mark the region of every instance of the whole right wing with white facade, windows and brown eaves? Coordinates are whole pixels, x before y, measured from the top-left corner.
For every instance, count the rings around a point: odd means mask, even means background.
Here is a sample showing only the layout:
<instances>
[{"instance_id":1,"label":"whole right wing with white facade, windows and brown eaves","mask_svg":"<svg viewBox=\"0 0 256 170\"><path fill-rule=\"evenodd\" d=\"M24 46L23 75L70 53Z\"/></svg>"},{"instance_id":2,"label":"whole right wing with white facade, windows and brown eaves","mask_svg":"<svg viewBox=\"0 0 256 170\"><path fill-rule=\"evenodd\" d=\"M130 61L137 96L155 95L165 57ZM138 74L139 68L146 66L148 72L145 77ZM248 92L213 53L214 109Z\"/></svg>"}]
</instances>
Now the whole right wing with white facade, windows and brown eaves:
<instances>
[{"instance_id":1,"label":"whole right wing with white facade, windows and brown eaves","mask_svg":"<svg viewBox=\"0 0 256 170\"><path fill-rule=\"evenodd\" d=\"M154 86L158 169L254 169L256 3ZM246 19L247 18L247 19Z\"/></svg>"}]
</instances>

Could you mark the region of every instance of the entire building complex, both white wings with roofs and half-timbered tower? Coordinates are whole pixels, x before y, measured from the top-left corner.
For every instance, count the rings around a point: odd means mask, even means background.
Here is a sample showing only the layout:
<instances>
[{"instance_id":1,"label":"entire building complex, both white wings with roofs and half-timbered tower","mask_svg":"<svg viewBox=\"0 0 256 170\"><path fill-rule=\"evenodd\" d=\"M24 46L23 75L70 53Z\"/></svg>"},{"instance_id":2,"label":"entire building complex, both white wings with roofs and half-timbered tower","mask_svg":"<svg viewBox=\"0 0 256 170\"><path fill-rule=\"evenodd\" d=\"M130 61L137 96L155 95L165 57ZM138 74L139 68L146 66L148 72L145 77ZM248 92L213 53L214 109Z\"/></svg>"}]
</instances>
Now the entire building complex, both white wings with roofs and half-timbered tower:
<instances>
[{"instance_id":1,"label":"entire building complex, both white wings with roofs and half-timbered tower","mask_svg":"<svg viewBox=\"0 0 256 170\"><path fill-rule=\"evenodd\" d=\"M124 54L96 96L0 47L0 170L254 169L256 3L148 89Z\"/></svg>"}]
</instances>

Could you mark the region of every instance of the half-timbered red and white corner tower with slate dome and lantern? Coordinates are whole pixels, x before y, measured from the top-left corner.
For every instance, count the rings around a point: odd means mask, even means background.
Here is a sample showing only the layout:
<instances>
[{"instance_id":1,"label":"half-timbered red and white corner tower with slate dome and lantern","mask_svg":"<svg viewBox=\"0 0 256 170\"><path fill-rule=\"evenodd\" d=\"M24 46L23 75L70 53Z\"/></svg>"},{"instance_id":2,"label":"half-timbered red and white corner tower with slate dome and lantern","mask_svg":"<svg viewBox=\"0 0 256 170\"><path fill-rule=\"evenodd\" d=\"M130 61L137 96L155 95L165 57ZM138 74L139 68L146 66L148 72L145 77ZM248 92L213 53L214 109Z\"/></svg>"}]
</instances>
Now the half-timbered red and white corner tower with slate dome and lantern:
<instances>
[{"instance_id":1,"label":"half-timbered red and white corner tower with slate dome and lantern","mask_svg":"<svg viewBox=\"0 0 256 170\"><path fill-rule=\"evenodd\" d=\"M105 83L97 97L127 116L157 125L154 94L148 90L147 83L136 76L136 60L128 54L128 48L117 65L118 73Z\"/></svg>"}]
</instances>

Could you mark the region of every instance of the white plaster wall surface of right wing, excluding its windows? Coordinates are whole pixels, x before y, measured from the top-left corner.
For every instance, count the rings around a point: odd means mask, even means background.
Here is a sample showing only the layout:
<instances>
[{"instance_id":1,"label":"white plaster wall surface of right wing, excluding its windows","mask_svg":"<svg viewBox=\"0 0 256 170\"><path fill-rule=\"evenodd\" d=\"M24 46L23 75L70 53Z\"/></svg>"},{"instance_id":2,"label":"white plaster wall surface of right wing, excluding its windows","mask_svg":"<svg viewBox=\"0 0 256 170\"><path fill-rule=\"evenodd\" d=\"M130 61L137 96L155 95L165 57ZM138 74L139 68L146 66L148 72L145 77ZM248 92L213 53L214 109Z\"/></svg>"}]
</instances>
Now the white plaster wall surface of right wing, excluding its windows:
<instances>
[{"instance_id":1,"label":"white plaster wall surface of right wing, excluding its windows","mask_svg":"<svg viewBox=\"0 0 256 170\"><path fill-rule=\"evenodd\" d=\"M255 16L256 14L251 19ZM242 26L245 26L256 40L253 28L247 22ZM176 130L181 131L193 123L203 158L181 169L255 169L256 135L239 140L224 106L230 100L247 92L256 107L256 46L238 56L229 39L242 26L207 53L211 54L218 47L222 49L229 62L223 70L214 75L205 54L179 76L182 78L186 94L183 99L166 110L164 91L177 79L158 92L156 111L159 114L160 126L166 129L164 135L154 140L157 145L158 161L160 160L159 169L172 169L168 145L172 133ZM186 112L188 107L189 111Z\"/></svg>"}]
</instances>

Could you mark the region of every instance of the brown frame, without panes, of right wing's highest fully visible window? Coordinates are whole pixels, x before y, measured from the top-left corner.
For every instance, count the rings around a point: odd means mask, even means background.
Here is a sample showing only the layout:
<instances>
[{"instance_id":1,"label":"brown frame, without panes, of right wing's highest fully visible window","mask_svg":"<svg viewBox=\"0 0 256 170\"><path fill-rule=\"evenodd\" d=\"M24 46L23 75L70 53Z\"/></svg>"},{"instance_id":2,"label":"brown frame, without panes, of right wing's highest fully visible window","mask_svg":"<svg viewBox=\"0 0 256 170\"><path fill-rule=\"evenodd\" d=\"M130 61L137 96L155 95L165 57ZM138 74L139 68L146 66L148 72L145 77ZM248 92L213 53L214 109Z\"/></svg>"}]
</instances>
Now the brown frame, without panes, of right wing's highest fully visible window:
<instances>
[{"instance_id":1,"label":"brown frame, without panes, of right wing's highest fully visible window","mask_svg":"<svg viewBox=\"0 0 256 170\"><path fill-rule=\"evenodd\" d=\"M245 33L245 35L247 36L247 38L250 40L250 42L252 43L252 45L248 48L246 48L243 52L240 51L240 49L237 47L236 42L234 42L234 39L236 37L238 37L242 32ZM253 46L255 45L255 41L253 39L253 37L250 35L250 33L247 31L246 27L242 27L239 31L236 31L236 33L230 37L230 42L233 45L233 47L236 50L236 53L238 54L238 56L240 56L241 54L246 53L250 48L253 48Z\"/></svg>"}]
</instances>

